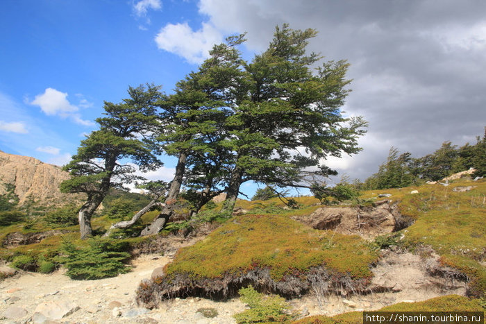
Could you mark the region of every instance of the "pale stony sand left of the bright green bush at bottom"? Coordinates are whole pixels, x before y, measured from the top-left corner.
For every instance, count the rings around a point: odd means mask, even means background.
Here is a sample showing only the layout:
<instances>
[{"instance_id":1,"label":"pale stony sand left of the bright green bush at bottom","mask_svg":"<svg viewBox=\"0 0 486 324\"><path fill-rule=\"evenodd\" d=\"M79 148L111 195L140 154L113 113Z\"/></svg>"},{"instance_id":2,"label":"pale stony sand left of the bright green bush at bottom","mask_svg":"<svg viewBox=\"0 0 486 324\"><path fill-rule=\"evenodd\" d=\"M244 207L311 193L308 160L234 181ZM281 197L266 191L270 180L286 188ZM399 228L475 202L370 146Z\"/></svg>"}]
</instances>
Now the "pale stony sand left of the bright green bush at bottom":
<instances>
[{"instance_id":1,"label":"pale stony sand left of the bright green bush at bottom","mask_svg":"<svg viewBox=\"0 0 486 324\"><path fill-rule=\"evenodd\" d=\"M42 323L34 316L37 305L49 302L72 302L79 307L73 314L49 323L235 323L231 317L242 312L239 300L214 302L203 298L187 298L165 302L160 309L138 308L135 289L144 278L150 278L154 268L163 266L171 257L143 255L133 262L133 271L116 278L101 280L71 280L60 270L51 274L24 273L0 283L0 314L19 307L26 311L19 318L3 318L4 323ZM117 309L115 307L117 306ZM213 307L219 315L205 318L196 312L201 307ZM146 314L140 314L147 312ZM10 314L10 313L9 313ZM19 311L19 315L24 314ZM10 322L9 322L10 321Z\"/></svg>"}]
</instances>

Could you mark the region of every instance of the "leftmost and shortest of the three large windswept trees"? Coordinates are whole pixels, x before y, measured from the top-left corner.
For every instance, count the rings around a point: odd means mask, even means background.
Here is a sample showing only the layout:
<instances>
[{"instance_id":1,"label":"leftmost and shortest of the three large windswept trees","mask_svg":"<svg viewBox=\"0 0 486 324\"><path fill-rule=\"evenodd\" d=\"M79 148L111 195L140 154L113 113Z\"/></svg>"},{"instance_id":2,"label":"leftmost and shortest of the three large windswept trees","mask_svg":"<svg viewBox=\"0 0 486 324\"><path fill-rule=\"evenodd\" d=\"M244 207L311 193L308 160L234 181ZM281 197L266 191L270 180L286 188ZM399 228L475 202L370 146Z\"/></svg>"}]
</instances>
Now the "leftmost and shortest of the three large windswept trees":
<instances>
[{"instance_id":1,"label":"leftmost and shortest of the three large windswept trees","mask_svg":"<svg viewBox=\"0 0 486 324\"><path fill-rule=\"evenodd\" d=\"M142 171L154 170L162 164L153 154L151 134L158 124L155 103L160 87L129 87L129 99L114 104L105 102L106 117L98 118L99 130L81 141L63 169L71 178L61 183L62 192L87 194L87 201L78 212L81 239L92 235L91 217L111 187L141 180L135 176L136 164ZM123 159L131 160L122 163Z\"/></svg>"}]
</instances>

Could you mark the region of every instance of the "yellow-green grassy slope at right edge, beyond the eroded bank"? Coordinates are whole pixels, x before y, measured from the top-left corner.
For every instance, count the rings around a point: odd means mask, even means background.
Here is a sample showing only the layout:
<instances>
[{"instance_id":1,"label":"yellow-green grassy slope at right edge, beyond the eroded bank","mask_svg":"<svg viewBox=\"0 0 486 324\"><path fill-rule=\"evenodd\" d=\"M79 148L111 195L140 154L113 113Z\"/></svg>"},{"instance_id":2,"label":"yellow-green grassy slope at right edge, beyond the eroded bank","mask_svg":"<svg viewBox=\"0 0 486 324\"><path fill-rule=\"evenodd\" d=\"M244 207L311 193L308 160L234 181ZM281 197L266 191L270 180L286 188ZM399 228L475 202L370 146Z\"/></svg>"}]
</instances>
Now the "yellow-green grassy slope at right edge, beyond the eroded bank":
<instances>
[{"instance_id":1,"label":"yellow-green grassy slope at right edge, beyond the eroded bank","mask_svg":"<svg viewBox=\"0 0 486 324\"><path fill-rule=\"evenodd\" d=\"M468 186L475 188L453 191L455 187ZM419 194L410 194L414 189ZM443 264L469 277L471 295L485 297L486 180L458 180L447 187L437 184L367 191L364 198L383 193L392 194L390 198L399 201L401 213L415 220L403 230L405 247L410 250L424 246L433 248Z\"/></svg>"}]
</instances>

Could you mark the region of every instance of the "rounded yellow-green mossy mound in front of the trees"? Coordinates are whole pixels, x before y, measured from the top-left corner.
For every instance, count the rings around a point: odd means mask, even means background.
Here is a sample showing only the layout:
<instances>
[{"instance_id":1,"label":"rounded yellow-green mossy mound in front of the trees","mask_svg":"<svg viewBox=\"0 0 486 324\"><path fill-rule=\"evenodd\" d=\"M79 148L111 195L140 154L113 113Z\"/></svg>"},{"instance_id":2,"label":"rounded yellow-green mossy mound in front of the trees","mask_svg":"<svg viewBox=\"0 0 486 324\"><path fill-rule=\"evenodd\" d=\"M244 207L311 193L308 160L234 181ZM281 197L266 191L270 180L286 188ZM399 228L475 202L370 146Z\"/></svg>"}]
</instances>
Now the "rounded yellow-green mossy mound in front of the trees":
<instances>
[{"instance_id":1,"label":"rounded yellow-green mossy mound in front of the trees","mask_svg":"<svg viewBox=\"0 0 486 324\"><path fill-rule=\"evenodd\" d=\"M270 268L274 280L304 275L312 266L325 266L337 277L370 278L377 255L357 236L321 232L285 216L252 215L230 219L206 239L176 255L167 265L167 279L176 273L191 278L218 278Z\"/></svg>"}]
</instances>

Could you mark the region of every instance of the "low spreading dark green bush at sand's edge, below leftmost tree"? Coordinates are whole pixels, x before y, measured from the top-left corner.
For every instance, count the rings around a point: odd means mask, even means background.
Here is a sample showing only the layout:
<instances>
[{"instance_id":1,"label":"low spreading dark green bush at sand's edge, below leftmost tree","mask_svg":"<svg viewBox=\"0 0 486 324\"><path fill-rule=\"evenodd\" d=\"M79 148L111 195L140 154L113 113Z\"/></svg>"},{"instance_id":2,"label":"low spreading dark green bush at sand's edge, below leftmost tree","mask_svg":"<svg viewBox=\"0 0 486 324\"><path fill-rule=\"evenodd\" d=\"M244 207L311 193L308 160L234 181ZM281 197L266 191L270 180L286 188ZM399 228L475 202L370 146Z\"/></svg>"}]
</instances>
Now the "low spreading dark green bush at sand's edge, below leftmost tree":
<instances>
[{"instance_id":1,"label":"low spreading dark green bush at sand's edge, below leftmost tree","mask_svg":"<svg viewBox=\"0 0 486 324\"><path fill-rule=\"evenodd\" d=\"M127 273L130 267L126 262L131 255L126 251L126 242L111 239L89 239L88 245L80 248L69 241L62 243L62 263L67 267L69 278L94 280L110 278Z\"/></svg>"}]
</instances>

